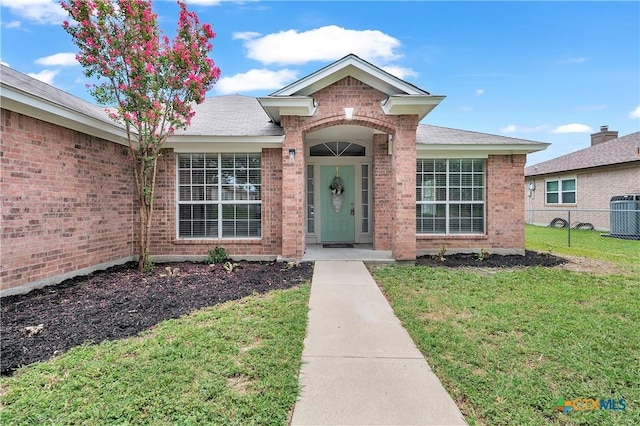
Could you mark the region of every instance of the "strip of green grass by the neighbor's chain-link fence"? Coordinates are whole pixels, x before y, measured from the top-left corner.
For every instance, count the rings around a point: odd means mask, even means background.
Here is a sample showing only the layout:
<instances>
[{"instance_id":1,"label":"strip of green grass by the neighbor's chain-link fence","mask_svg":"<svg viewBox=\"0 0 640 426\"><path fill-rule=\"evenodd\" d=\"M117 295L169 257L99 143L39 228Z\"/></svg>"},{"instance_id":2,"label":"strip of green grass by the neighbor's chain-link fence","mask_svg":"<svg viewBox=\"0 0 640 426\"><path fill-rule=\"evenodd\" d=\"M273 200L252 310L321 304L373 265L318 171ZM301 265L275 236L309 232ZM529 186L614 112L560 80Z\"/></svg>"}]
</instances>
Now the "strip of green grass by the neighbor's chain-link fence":
<instances>
[{"instance_id":1,"label":"strip of green grass by the neighbor's chain-link fence","mask_svg":"<svg viewBox=\"0 0 640 426\"><path fill-rule=\"evenodd\" d=\"M526 225L525 233L530 250L606 260L640 272L640 241L602 237L601 231L572 229L569 247L567 229Z\"/></svg>"}]
</instances>

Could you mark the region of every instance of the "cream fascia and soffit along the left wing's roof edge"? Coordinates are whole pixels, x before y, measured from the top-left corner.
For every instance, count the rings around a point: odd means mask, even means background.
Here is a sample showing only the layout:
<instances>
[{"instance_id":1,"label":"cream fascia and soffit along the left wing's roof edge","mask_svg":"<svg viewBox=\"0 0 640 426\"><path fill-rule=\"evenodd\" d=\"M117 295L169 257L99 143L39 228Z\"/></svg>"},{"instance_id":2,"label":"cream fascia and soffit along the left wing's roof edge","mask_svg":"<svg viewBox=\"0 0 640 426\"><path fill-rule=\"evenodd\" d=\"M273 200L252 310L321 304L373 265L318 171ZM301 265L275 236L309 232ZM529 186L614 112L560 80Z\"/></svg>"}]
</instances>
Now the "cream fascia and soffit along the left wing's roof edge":
<instances>
[{"instance_id":1,"label":"cream fascia and soffit along the left wing's roof edge","mask_svg":"<svg viewBox=\"0 0 640 426\"><path fill-rule=\"evenodd\" d=\"M66 108L38 96L2 85L2 108L71 130L128 145L127 133L114 123Z\"/></svg>"}]
</instances>

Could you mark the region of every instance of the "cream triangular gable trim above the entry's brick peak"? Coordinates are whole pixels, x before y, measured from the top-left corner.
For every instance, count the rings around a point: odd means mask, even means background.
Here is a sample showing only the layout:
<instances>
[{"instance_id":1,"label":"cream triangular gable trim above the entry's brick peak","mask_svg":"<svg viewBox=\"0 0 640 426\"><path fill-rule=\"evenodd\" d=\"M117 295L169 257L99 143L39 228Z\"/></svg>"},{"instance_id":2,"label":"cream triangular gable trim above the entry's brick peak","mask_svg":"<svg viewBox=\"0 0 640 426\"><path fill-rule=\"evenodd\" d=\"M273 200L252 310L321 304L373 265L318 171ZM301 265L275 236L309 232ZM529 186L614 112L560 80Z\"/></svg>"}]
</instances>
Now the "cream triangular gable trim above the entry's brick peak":
<instances>
[{"instance_id":1,"label":"cream triangular gable trim above the entry's brick peak","mask_svg":"<svg viewBox=\"0 0 640 426\"><path fill-rule=\"evenodd\" d=\"M395 77L354 54L345 56L269 96L309 96L347 76L387 95L429 95L411 83Z\"/></svg>"}]
</instances>

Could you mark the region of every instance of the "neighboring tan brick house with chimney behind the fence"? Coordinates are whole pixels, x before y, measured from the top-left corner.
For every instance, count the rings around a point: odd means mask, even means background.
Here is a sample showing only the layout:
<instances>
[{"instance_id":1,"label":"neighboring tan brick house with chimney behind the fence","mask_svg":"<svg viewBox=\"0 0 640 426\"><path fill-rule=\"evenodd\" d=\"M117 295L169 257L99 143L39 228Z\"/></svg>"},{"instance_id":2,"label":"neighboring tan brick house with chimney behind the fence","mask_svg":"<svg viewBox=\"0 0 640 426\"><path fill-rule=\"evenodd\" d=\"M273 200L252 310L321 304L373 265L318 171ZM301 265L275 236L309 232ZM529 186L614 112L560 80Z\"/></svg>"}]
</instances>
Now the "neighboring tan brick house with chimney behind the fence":
<instances>
[{"instance_id":1,"label":"neighboring tan brick house with chimney behind the fence","mask_svg":"<svg viewBox=\"0 0 640 426\"><path fill-rule=\"evenodd\" d=\"M529 166L525 176L528 222L549 225L572 210L571 225L584 222L608 230L605 210L611 198L640 194L640 132L619 138L618 132L602 126L591 135L590 147Z\"/></svg>"}]
</instances>

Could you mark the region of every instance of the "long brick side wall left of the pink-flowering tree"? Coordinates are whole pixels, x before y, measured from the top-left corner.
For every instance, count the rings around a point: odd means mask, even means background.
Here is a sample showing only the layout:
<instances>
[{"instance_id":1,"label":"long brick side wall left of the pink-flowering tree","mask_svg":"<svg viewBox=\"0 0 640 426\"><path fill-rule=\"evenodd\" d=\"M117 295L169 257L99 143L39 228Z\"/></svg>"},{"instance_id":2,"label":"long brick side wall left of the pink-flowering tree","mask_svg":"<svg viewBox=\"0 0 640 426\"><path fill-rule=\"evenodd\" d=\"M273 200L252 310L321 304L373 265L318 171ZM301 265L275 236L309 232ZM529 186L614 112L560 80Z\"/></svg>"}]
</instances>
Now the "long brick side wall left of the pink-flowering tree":
<instances>
[{"instance_id":1,"label":"long brick side wall left of the pink-flowering tree","mask_svg":"<svg viewBox=\"0 0 640 426\"><path fill-rule=\"evenodd\" d=\"M132 255L127 148L1 111L2 290Z\"/></svg>"}]
</instances>

